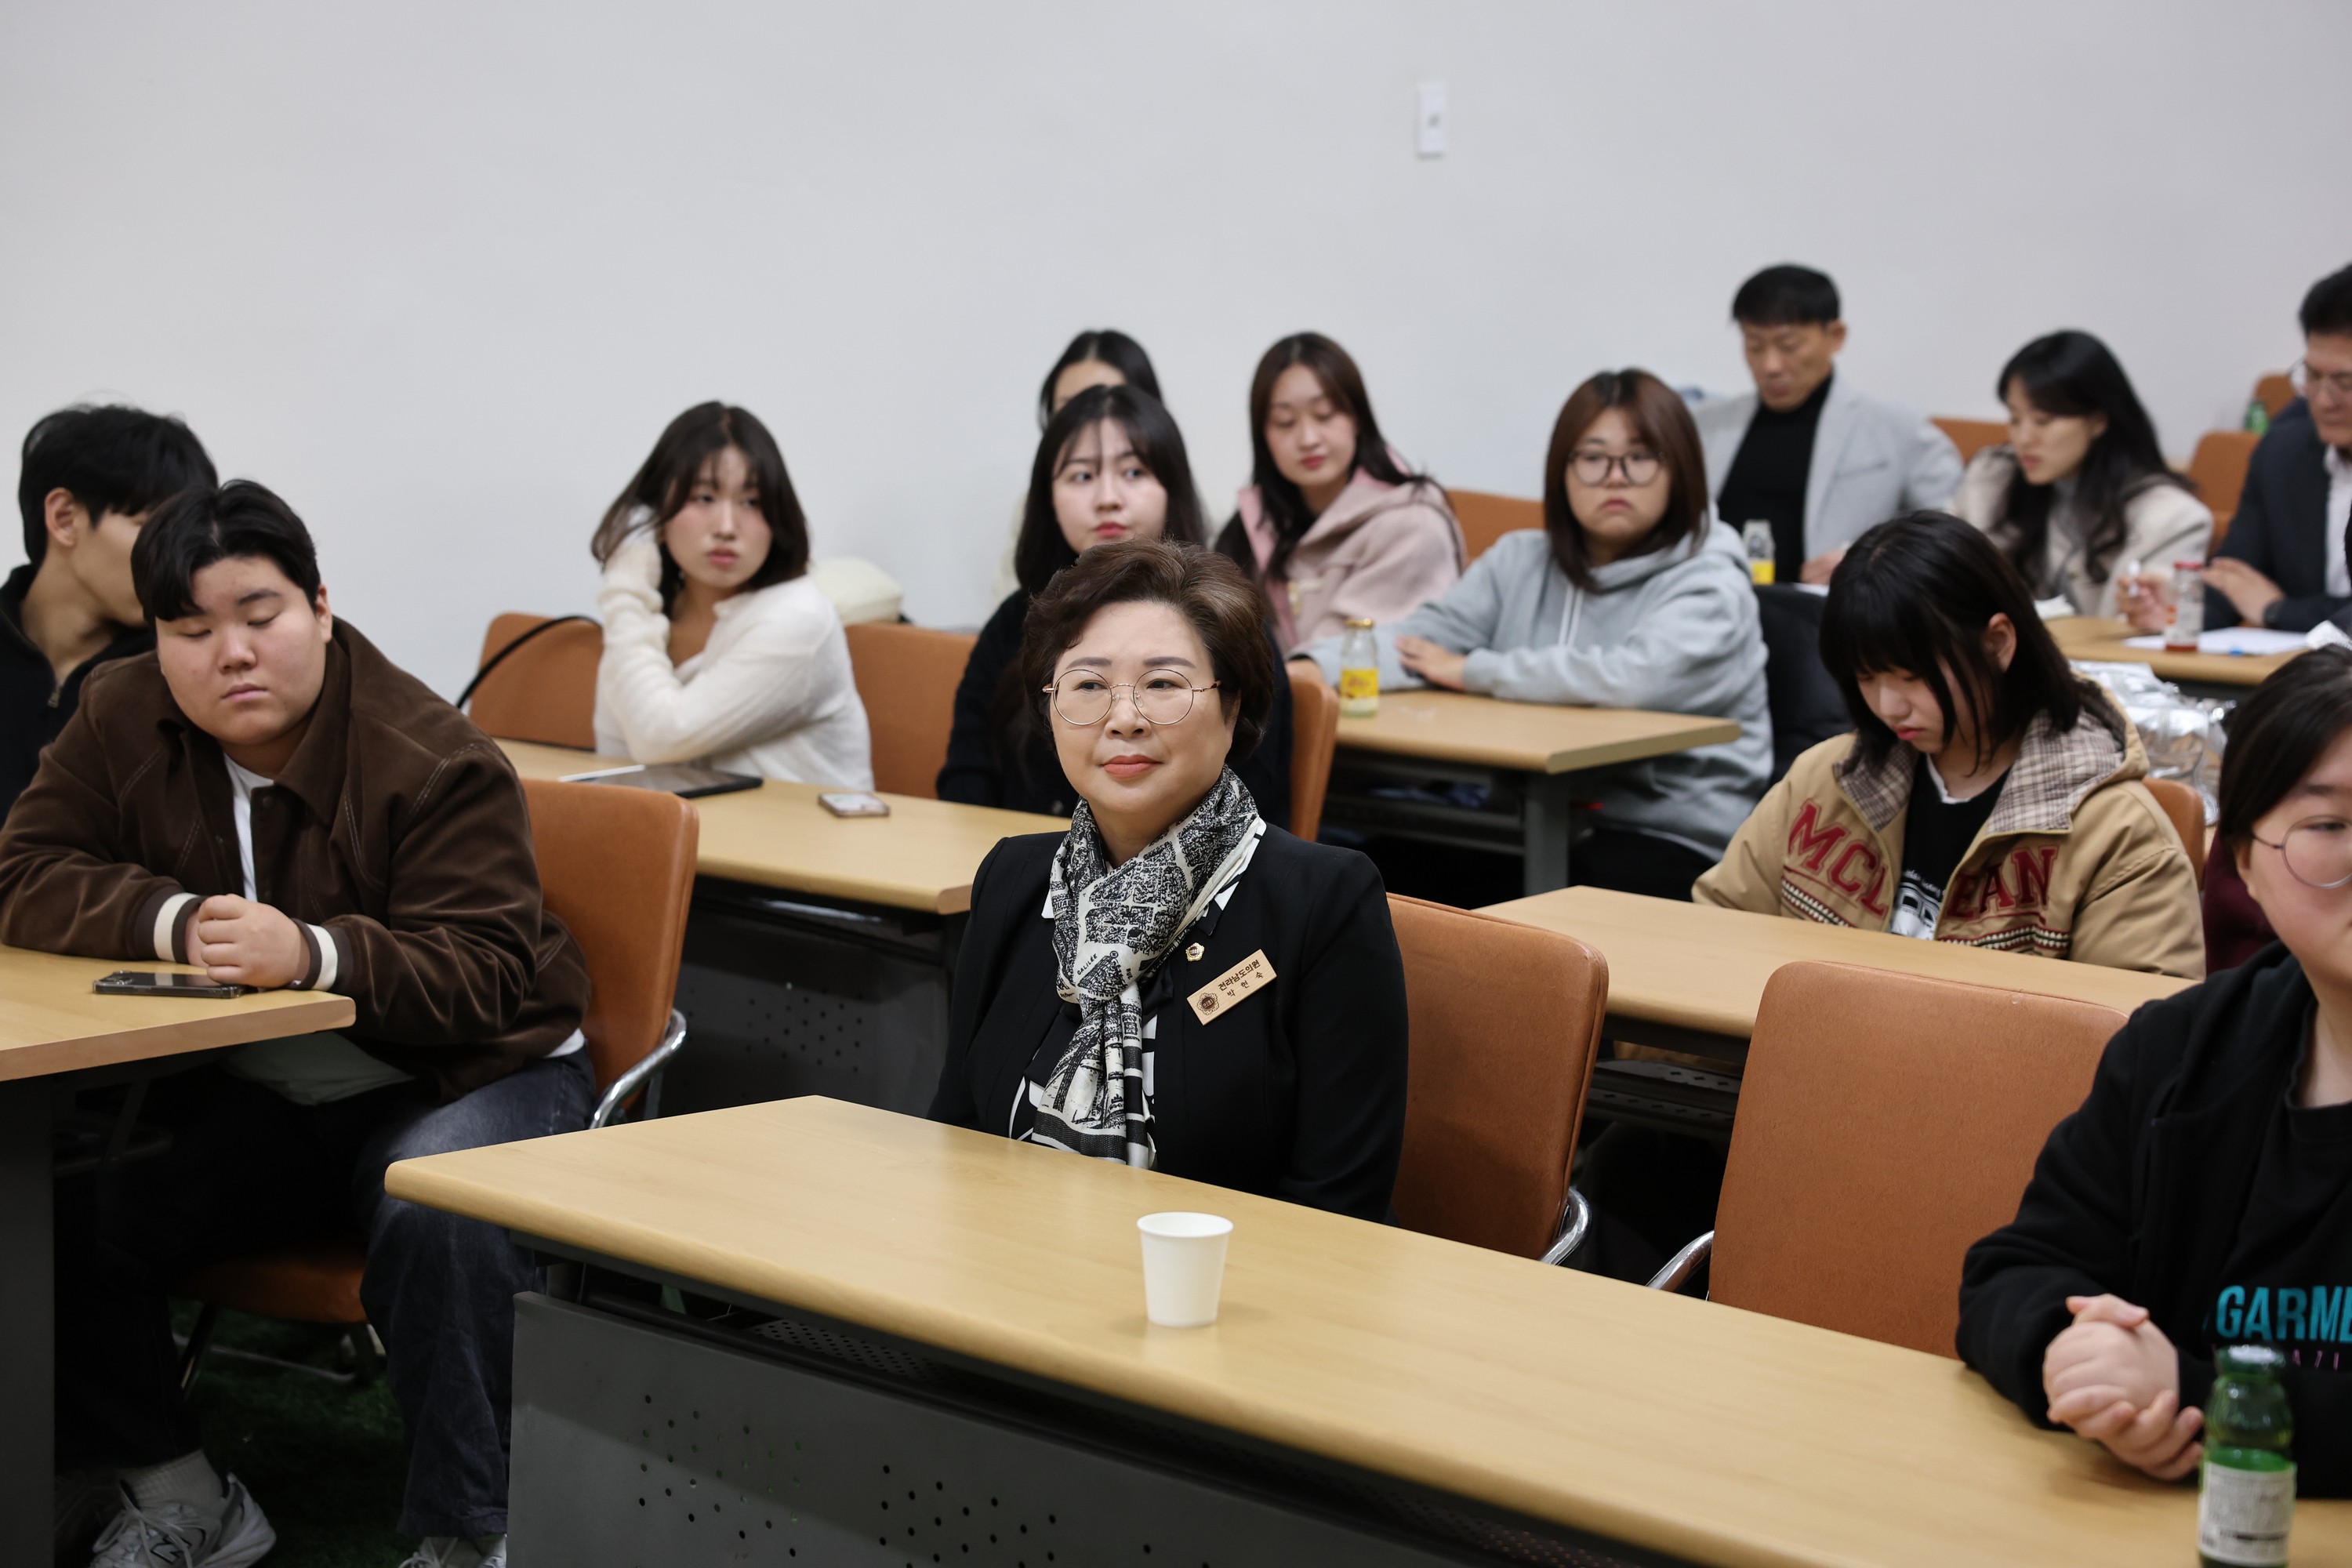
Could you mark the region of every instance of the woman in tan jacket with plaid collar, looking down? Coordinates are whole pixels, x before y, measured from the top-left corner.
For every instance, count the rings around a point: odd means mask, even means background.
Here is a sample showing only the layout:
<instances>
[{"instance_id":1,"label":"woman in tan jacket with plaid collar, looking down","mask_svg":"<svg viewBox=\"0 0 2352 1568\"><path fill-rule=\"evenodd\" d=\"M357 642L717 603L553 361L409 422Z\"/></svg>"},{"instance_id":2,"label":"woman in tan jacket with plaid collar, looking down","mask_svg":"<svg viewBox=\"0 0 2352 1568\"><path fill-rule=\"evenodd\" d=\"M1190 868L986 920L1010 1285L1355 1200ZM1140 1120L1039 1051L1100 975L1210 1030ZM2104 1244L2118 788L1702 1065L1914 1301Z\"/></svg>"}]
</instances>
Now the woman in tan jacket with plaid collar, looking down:
<instances>
[{"instance_id":1,"label":"woman in tan jacket with plaid collar, looking down","mask_svg":"<svg viewBox=\"0 0 2352 1568\"><path fill-rule=\"evenodd\" d=\"M1797 757L1698 903L2204 976L2197 877L2131 722L1947 512L1863 534L1820 623L1856 733Z\"/></svg>"}]
</instances>

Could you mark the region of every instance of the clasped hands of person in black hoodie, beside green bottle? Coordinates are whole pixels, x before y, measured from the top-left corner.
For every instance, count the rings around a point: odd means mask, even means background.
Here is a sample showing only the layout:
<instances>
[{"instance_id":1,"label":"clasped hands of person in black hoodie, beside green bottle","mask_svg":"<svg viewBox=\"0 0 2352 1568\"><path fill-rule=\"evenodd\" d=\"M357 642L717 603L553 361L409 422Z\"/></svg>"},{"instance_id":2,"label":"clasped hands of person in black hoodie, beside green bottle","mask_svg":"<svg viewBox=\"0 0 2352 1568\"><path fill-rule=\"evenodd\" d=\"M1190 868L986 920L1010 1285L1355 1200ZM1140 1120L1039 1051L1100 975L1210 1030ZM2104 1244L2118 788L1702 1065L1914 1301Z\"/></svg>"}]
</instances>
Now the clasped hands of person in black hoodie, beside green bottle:
<instances>
[{"instance_id":1,"label":"clasped hands of person in black hoodie, beside green bottle","mask_svg":"<svg viewBox=\"0 0 2352 1568\"><path fill-rule=\"evenodd\" d=\"M2180 1361L2147 1307L2119 1295L2070 1295L2065 1309L2074 1324L2042 1352L2051 1420L2159 1481L2197 1469L2204 1410L2180 1408Z\"/></svg>"}]
</instances>

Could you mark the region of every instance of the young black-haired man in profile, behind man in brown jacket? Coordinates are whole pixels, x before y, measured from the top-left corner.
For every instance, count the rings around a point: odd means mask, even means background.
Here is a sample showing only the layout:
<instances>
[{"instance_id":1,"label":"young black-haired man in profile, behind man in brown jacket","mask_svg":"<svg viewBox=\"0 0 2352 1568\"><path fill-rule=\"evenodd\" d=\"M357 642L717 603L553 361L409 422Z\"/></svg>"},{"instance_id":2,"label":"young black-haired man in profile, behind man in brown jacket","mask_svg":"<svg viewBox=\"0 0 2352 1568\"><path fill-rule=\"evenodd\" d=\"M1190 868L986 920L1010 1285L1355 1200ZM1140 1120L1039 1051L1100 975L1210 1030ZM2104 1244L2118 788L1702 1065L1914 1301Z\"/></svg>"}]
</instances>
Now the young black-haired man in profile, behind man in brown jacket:
<instances>
[{"instance_id":1,"label":"young black-haired man in profile, behind man in brown jacket","mask_svg":"<svg viewBox=\"0 0 2352 1568\"><path fill-rule=\"evenodd\" d=\"M141 409L59 409L24 437L26 564L0 583L0 820L73 717L82 677L155 646L132 543L160 501L212 482L188 425Z\"/></svg>"}]
</instances>

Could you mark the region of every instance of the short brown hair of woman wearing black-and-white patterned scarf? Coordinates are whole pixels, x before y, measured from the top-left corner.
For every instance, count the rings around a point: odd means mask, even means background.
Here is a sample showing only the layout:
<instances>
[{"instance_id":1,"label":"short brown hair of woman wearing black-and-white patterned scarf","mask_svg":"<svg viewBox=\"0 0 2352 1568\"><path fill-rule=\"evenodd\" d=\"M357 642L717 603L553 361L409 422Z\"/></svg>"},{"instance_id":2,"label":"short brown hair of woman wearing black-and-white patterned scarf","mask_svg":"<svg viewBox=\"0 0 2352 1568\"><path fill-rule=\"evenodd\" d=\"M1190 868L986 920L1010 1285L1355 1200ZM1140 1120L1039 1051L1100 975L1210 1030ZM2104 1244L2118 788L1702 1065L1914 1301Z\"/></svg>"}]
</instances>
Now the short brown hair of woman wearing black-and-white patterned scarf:
<instances>
[{"instance_id":1,"label":"short brown hair of woman wearing black-and-white patterned scarf","mask_svg":"<svg viewBox=\"0 0 2352 1568\"><path fill-rule=\"evenodd\" d=\"M1021 686L1040 724L1049 726L1051 717L1044 689L1054 684L1054 665L1110 604L1169 604L1192 623L1209 649L1223 712L1235 717L1225 764L1247 762L1265 736L1275 682L1282 679L1265 635L1265 599L1223 555L1167 538L1094 545L1030 602L1021 630Z\"/></svg>"}]
</instances>

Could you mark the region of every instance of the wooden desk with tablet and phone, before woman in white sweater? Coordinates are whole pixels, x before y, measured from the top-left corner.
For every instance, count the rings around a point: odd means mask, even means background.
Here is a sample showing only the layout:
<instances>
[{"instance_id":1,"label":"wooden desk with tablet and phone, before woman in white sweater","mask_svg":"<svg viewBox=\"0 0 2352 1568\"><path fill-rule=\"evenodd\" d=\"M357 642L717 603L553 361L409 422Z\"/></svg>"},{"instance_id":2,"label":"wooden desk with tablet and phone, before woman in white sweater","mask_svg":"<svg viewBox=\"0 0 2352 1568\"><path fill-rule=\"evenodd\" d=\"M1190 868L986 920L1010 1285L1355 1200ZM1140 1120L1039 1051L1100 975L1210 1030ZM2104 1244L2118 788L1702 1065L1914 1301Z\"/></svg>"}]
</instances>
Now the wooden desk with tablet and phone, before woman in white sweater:
<instances>
[{"instance_id":1,"label":"wooden desk with tablet and phone, before woman in white sweater","mask_svg":"<svg viewBox=\"0 0 2352 1568\"><path fill-rule=\"evenodd\" d=\"M524 778L626 766L499 745ZM974 872L1007 835L1068 827L908 795L884 795L884 818L840 818L818 795L769 780L694 802L701 875L677 969L691 1034L663 1072L673 1112L804 1093L922 1112L948 1060Z\"/></svg>"}]
</instances>

